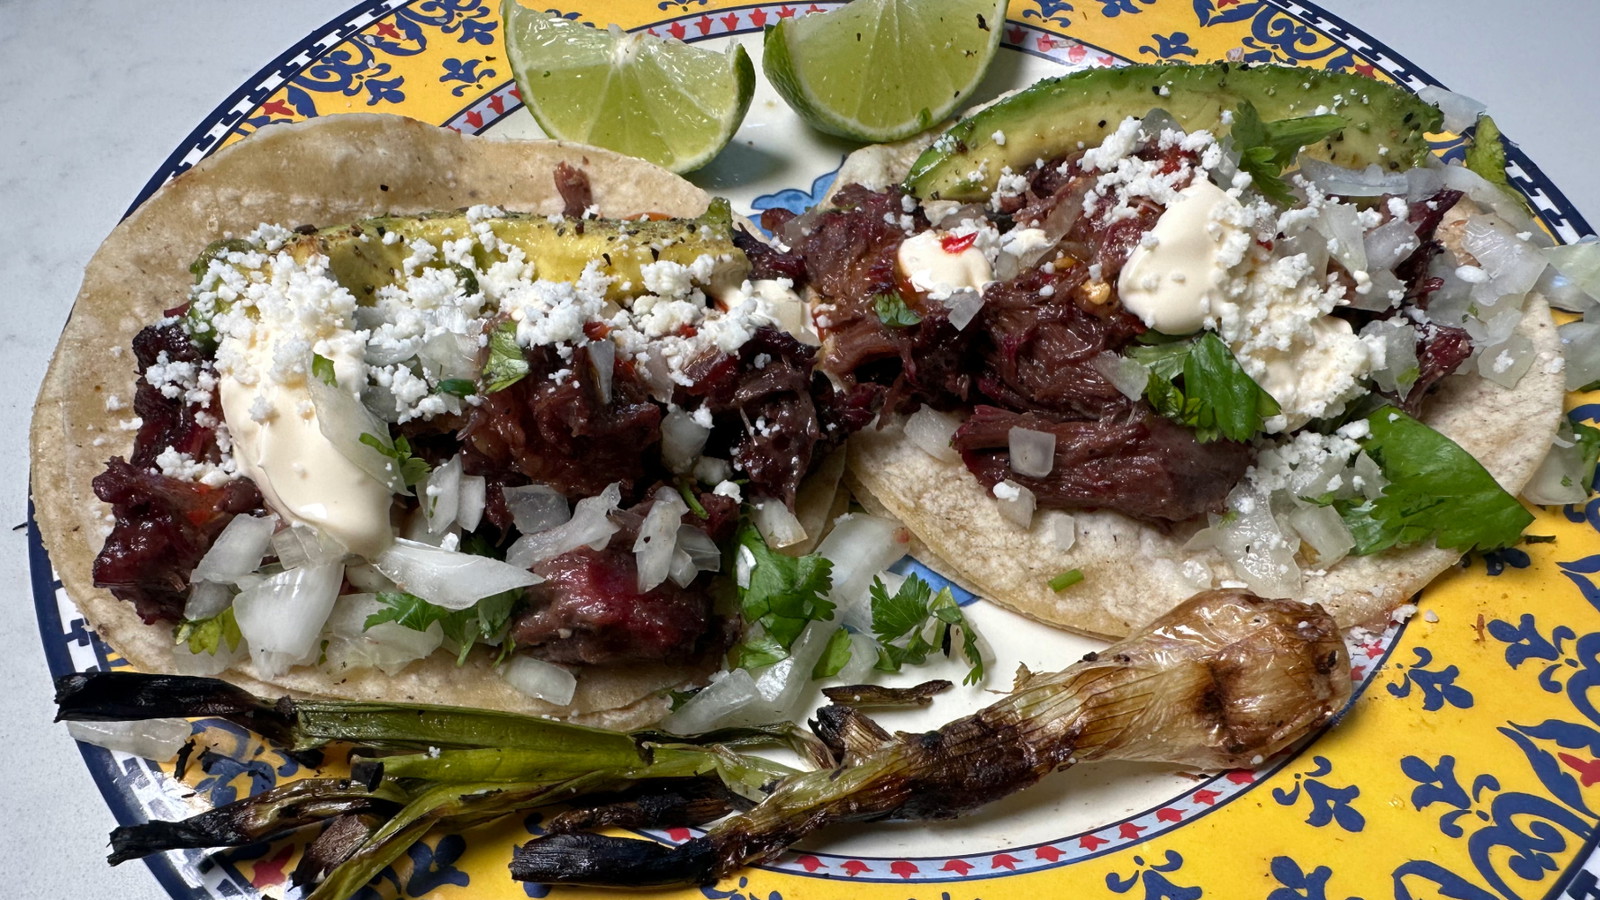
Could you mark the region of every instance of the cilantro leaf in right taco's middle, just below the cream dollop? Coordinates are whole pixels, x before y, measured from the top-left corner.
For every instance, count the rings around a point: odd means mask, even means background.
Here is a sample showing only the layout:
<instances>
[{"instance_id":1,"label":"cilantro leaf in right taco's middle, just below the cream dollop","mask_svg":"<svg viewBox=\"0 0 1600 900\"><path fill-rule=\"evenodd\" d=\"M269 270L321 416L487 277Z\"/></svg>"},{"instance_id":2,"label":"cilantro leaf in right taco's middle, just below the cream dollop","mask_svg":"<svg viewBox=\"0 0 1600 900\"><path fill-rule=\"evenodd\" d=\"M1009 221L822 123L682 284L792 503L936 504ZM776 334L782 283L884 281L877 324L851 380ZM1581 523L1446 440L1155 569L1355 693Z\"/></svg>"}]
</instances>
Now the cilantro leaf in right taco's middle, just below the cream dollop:
<instances>
[{"instance_id":1,"label":"cilantro leaf in right taco's middle, just below the cream dollop","mask_svg":"<svg viewBox=\"0 0 1600 900\"><path fill-rule=\"evenodd\" d=\"M1150 407L1195 429L1200 440L1250 440L1267 416L1280 412L1272 394L1245 373L1234 351L1211 331L1189 341L1134 346L1126 352L1150 370L1144 388Z\"/></svg>"}]
</instances>

